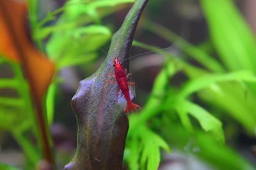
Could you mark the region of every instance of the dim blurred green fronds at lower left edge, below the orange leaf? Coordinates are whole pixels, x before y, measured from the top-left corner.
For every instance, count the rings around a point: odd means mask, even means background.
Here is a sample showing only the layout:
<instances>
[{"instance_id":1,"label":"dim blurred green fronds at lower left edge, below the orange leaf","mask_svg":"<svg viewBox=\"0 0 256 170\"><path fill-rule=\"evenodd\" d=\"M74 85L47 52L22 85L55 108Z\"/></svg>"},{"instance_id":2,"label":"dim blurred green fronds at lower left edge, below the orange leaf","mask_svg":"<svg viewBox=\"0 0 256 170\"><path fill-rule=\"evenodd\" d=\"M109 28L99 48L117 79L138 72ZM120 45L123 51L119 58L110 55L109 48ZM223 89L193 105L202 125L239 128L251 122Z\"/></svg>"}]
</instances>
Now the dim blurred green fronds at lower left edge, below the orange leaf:
<instances>
[{"instance_id":1,"label":"dim blurred green fronds at lower left edge, below the orange leaf","mask_svg":"<svg viewBox=\"0 0 256 170\"><path fill-rule=\"evenodd\" d=\"M12 68L13 77L1 78L0 87L13 90L17 93L17 97L0 97L0 129L12 134L26 155L28 164L35 165L40 157L38 146L26 136L28 133L33 133L35 136L38 134L28 82L24 80L19 64L2 59L1 66L6 64Z\"/></svg>"}]
</instances>

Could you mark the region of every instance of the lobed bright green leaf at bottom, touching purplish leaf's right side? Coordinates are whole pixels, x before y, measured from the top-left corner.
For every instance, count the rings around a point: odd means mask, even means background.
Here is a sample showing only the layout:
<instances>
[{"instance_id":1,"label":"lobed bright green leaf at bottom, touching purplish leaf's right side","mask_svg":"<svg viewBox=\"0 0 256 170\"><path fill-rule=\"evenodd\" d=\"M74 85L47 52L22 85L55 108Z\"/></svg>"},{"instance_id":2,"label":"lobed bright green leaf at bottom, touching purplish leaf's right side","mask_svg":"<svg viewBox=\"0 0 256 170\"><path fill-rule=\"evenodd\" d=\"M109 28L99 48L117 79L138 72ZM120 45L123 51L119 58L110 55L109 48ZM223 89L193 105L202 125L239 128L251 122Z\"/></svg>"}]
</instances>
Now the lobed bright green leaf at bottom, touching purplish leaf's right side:
<instances>
[{"instance_id":1,"label":"lobed bright green leaf at bottom, touching purplish leaf's right side","mask_svg":"<svg viewBox=\"0 0 256 170\"><path fill-rule=\"evenodd\" d=\"M170 152L168 144L145 125L140 125L129 135L127 146L130 152L125 160L131 170L156 170L160 163L161 148Z\"/></svg>"}]
</instances>

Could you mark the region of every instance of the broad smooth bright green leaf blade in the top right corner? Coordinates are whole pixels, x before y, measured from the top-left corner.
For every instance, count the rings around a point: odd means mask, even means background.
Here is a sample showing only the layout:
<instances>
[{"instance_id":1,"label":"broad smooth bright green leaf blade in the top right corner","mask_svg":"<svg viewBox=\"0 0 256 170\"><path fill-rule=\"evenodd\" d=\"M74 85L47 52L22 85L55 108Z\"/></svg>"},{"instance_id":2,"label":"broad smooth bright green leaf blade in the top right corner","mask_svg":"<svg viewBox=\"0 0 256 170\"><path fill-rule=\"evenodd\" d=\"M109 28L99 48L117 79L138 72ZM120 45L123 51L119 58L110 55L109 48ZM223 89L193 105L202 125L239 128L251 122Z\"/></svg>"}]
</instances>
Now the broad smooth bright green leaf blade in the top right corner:
<instances>
[{"instance_id":1,"label":"broad smooth bright green leaf blade in the top right corner","mask_svg":"<svg viewBox=\"0 0 256 170\"><path fill-rule=\"evenodd\" d=\"M211 39L220 59L234 71L256 71L256 43L234 1L201 0Z\"/></svg>"}]
</instances>

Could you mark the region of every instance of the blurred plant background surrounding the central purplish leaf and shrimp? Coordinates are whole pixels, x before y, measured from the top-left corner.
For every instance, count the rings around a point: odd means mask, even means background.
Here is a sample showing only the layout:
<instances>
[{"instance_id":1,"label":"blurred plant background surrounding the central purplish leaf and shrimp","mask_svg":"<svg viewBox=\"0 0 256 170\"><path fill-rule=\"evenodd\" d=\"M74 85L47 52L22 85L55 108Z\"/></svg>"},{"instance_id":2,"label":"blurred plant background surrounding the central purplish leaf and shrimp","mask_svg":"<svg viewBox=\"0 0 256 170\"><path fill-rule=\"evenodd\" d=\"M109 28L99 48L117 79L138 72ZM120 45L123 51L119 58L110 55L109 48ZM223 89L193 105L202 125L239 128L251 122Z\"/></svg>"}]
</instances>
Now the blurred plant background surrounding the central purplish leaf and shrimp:
<instances>
[{"instance_id":1,"label":"blurred plant background surrounding the central purplish leaf and shrimp","mask_svg":"<svg viewBox=\"0 0 256 170\"><path fill-rule=\"evenodd\" d=\"M45 114L56 167L72 159L71 99L105 59L133 2L28 0L22 13L20 0L0 8L1 34L9 31L0 39L0 169L44 164L36 113ZM129 116L124 169L255 169L255 16L254 0L148 2L130 60L143 109Z\"/></svg>"}]
</instances>

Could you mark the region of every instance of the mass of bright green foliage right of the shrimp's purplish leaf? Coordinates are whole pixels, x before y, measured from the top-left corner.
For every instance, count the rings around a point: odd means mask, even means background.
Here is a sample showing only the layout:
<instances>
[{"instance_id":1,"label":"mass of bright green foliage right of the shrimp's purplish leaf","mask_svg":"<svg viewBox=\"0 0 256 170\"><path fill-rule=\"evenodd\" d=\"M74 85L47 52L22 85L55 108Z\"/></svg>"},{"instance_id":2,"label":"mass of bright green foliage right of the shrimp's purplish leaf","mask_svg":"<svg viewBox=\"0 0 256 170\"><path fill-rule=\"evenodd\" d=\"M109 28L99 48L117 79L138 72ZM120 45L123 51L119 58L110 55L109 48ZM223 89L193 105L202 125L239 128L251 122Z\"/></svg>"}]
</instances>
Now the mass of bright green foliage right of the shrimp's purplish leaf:
<instances>
[{"instance_id":1,"label":"mass of bright green foliage right of the shrimp's purplish leaf","mask_svg":"<svg viewBox=\"0 0 256 170\"><path fill-rule=\"evenodd\" d=\"M239 153L223 144L225 129L221 123L221 118L225 118L222 115L228 114L250 136L255 136L255 39L233 1L202 0L201 4L210 30L209 41L212 41L212 49L216 50L218 57L211 56L214 51L209 53L190 44L163 25L150 20L143 24L144 29L170 41L182 53L172 56L159 52L166 56L166 64L157 76L143 110L130 118L126 148L129 154L125 155L130 169L147 169L145 165L140 168L134 166L142 161L142 156L138 157L138 154L143 155L144 151L132 152L140 151L141 145L130 144L136 139L136 132L144 126L157 131L174 148L184 150L189 146L185 152L200 157L216 169L255 168ZM134 45L147 50L159 50L156 46L138 41ZM188 59L195 60L200 66L191 64ZM172 85L172 78L180 72L186 74L188 80L177 88ZM193 103L198 99L204 105ZM207 133L198 129L192 117ZM141 138L143 136L141 132ZM154 150L150 146L143 149ZM200 151L195 152L195 149ZM155 155L148 158L147 164L159 162Z\"/></svg>"}]
</instances>

